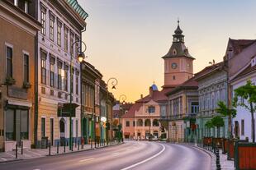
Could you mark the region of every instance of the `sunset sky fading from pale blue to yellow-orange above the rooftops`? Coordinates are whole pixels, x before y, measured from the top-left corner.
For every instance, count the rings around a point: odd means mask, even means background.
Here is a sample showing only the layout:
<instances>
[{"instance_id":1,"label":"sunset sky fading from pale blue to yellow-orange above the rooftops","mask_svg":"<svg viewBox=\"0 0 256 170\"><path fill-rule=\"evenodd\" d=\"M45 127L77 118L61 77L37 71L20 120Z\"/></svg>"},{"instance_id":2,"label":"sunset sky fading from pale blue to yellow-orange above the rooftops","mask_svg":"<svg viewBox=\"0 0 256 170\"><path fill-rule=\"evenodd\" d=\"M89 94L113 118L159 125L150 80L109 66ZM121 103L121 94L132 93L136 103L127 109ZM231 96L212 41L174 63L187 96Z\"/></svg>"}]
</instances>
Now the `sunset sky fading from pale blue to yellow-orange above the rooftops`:
<instances>
[{"instance_id":1,"label":"sunset sky fading from pale blue to yellow-orange above the rooftops","mask_svg":"<svg viewBox=\"0 0 256 170\"><path fill-rule=\"evenodd\" d=\"M164 60L177 19L196 58L194 73L220 62L231 39L256 39L254 0L78 0L88 12L86 60L103 79L118 79L116 99L128 102L164 84Z\"/></svg>"}]
</instances>

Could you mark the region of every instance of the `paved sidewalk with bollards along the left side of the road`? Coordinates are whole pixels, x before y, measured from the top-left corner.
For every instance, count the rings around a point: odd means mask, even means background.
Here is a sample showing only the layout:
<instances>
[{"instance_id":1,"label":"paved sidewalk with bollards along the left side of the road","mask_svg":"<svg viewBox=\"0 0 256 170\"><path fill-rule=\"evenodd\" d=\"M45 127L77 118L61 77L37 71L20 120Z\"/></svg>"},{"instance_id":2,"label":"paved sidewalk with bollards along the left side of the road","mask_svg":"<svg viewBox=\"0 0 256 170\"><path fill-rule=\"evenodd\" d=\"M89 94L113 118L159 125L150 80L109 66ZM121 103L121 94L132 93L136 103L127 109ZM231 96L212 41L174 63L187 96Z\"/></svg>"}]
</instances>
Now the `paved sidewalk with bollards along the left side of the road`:
<instances>
[{"instance_id":1,"label":"paved sidewalk with bollards along the left side of the road","mask_svg":"<svg viewBox=\"0 0 256 170\"><path fill-rule=\"evenodd\" d=\"M122 144L122 143L120 143ZM111 145L119 145L118 143L113 143ZM97 145L97 148L95 148L95 145L83 145L83 149L81 148L81 145L73 145L73 151L69 150L69 146L59 146L59 154L69 154L69 153L75 153L90 149L100 149L105 148L111 145ZM16 151L9 151L9 152L0 152L0 163L9 162L9 161L16 161L16 160L22 160L22 159L36 159L40 157L45 157L50 155L57 155L57 147L51 146L50 149L23 149L23 154L21 154L21 149L19 148L17 151L17 159L16 159Z\"/></svg>"}]
</instances>

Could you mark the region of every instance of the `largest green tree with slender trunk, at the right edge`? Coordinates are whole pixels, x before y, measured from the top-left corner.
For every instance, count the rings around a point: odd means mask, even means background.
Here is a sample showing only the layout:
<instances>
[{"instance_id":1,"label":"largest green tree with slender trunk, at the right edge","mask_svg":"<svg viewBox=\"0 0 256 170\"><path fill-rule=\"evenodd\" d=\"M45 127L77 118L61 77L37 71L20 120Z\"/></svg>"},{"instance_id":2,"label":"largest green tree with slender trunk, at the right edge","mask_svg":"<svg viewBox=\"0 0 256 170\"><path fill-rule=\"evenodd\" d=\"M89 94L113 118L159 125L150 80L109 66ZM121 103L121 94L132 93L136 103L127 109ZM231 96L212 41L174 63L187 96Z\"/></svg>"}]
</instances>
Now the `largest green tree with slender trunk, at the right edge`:
<instances>
[{"instance_id":1,"label":"largest green tree with slender trunk, at the right edge","mask_svg":"<svg viewBox=\"0 0 256 170\"><path fill-rule=\"evenodd\" d=\"M256 112L256 85L254 85L251 80L248 80L246 85L240 86L235 90L233 105L235 106L235 108L237 106L245 108L249 110L249 113L251 113L252 136L253 142L255 142L254 113Z\"/></svg>"}]
</instances>

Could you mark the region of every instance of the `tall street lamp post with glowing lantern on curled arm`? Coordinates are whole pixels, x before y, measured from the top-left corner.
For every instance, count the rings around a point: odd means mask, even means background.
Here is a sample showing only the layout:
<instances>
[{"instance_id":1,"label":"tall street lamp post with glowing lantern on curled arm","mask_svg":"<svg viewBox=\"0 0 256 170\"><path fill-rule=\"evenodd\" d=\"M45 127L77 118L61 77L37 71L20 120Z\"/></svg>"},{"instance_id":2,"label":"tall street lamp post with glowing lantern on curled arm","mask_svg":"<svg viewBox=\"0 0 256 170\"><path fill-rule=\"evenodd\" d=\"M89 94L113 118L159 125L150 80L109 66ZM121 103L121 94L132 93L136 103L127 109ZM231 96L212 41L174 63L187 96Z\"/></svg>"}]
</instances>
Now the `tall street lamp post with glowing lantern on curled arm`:
<instances>
[{"instance_id":1,"label":"tall street lamp post with glowing lantern on curled arm","mask_svg":"<svg viewBox=\"0 0 256 170\"><path fill-rule=\"evenodd\" d=\"M75 41L73 42L73 44L71 45L73 47L74 44L78 44L80 43L80 46L77 47L77 51L78 51L78 56L77 56L77 59L79 62L83 62L83 59L84 59L84 52L86 50L86 44L80 40L80 41ZM84 44L84 50L82 51L82 44ZM71 112L72 112L72 107L71 107L71 104L72 104L72 91L73 91L73 85L71 82L71 76L72 76L72 60L73 60L73 57L72 57L72 54L70 55L70 65L69 65L69 150L72 150L73 148L73 139L72 139L72 115L71 115Z\"/></svg>"}]
</instances>

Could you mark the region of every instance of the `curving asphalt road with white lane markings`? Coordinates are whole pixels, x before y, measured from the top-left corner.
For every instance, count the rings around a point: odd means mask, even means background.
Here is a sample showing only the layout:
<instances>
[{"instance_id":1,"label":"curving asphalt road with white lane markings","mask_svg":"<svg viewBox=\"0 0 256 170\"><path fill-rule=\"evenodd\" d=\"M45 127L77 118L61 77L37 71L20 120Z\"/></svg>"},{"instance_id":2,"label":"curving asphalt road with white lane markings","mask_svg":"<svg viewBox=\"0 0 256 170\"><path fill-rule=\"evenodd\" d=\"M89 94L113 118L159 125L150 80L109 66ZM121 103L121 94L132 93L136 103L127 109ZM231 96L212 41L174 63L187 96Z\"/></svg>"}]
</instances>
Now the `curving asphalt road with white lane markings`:
<instances>
[{"instance_id":1,"label":"curving asphalt road with white lane markings","mask_svg":"<svg viewBox=\"0 0 256 170\"><path fill-rule=\"evenodd\" d=\"M104 149L1 163L1 170L210 170L211 157L200 149L148 141L128 141Z\"/></svg>"}]
</instances>

